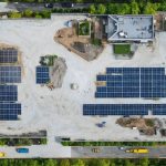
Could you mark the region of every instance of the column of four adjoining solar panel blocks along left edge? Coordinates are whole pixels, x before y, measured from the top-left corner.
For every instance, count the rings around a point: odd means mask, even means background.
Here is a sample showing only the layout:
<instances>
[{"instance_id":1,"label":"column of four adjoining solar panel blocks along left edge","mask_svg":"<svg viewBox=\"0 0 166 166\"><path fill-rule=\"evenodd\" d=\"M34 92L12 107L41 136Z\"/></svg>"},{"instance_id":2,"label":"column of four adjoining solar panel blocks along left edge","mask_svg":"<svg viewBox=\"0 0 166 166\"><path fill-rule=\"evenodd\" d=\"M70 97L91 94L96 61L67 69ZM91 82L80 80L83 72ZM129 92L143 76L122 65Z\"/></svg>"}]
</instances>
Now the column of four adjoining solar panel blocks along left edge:
<instances>
[{"instance_id":1,"label":"column of four adjoining solar panel blocks along left edge","mask_svg":"<svg viewBox=\"0 0 166 166\"><path fill-rule=\"evenodd\" d=\"M18 62L18 50L1 49L0 63ZM0 121L17 121L21 115L21 104L18 101L18 86L21 83L21 66L0 65Z\"/></svg>"}]
</instances>

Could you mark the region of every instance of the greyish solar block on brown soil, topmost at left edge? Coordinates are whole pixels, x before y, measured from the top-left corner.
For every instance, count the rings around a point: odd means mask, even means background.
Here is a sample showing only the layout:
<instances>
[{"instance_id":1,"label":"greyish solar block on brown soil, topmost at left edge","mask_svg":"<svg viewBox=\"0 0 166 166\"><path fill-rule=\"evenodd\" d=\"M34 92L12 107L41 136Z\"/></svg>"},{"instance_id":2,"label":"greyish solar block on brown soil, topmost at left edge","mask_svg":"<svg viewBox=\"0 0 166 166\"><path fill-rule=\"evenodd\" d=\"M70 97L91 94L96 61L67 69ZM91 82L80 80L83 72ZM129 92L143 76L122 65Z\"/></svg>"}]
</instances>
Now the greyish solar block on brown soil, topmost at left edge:
<instances>
[{"instance_id":1,"label":"greyish solar block on brown soil, topmost at left edge","mask_svg":"<svg viewBox=\"0 0 166 166\"><path fill-rule=\"evenodd\" d=\"M15 63L18 62L18 50L15 49L1 49L0 63Z\"/></svg>"}]
</instances>

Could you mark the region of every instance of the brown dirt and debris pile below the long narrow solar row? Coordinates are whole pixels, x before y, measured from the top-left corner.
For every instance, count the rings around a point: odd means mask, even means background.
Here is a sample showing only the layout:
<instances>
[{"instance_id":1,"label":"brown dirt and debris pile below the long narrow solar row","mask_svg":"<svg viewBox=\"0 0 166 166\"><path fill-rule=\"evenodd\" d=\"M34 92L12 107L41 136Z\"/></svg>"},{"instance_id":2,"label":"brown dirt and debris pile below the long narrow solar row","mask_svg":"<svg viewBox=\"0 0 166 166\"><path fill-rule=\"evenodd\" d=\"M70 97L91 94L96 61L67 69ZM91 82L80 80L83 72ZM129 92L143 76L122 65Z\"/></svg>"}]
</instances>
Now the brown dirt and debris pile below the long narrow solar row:
<instances>
[{"instance_id":1,"label":"brown dirt and debris pile below the long narrow solar row","mask_svg":"<svg viewBox=\"0 0 166 166\"><path fill-rule=\"evenodd\" d=\"M116 121L116 124L123 127L134 128L136 127L139 132L145 135L154 135L155 134L155 126L153 118L129 118L129 117L122 117Z\"/></svg>"}]
</instances>

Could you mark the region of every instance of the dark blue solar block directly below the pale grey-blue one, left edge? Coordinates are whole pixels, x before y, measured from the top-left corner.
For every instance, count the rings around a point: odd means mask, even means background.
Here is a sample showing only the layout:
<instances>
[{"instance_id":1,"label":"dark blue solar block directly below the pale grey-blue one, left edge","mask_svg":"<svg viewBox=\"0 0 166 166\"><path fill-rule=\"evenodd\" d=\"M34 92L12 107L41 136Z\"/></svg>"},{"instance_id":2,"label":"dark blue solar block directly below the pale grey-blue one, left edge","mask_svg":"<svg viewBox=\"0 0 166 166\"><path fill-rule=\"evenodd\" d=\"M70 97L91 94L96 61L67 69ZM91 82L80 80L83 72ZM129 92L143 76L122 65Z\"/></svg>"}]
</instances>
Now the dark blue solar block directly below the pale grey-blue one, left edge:
<instances>
[{"instance_id":1,"label":"dark blue solar block directly below the pale grey-blue one, left edge","mask_svg":"<svg viewBox=\"0 0 166 166\"><path fill-rule=\"evenodd\" d=\"M14 102L18 100L17 85L0 85L0 102Z\"/></svg>"}]
</instances>

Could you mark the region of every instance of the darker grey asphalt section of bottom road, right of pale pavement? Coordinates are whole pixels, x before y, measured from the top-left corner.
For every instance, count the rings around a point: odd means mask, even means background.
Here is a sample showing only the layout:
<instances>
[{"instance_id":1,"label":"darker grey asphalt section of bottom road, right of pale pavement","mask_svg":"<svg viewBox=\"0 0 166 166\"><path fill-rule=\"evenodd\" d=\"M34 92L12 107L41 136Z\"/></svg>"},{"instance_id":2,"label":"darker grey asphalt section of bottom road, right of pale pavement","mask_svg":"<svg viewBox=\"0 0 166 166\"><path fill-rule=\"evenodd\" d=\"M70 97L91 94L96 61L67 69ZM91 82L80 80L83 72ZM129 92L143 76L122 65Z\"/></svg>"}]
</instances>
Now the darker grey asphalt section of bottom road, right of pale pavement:
<instances>
[{"instance_id":1,"label":"darker grey asphalt section of bottom road, right of pale pavement","mask_svg":"<svg viewBox=\"0 0 166 166\"><path fill-rule=\"evenodd\" d=\"M166 158L166 147L146 147L148 154L126 153L124 149L118 149L116 146L100 147L100 153L93 153L92 147L71 147L72 158ZM125 147L127 149L127 147Z\"/></svg>"}]
</instances>

